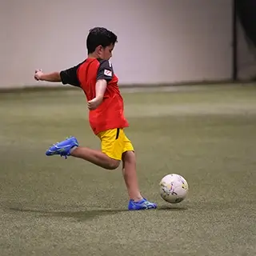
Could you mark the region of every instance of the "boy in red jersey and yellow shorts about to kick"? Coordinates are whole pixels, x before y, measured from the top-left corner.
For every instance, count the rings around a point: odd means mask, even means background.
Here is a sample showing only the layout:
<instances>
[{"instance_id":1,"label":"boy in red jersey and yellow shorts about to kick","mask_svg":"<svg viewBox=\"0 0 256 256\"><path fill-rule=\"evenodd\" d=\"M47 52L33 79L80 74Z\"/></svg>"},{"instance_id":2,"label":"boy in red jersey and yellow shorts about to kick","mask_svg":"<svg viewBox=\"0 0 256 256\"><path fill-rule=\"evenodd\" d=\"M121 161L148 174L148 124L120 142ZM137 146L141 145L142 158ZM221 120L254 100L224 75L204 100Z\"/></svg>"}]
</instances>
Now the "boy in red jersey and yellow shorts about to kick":
<instances>
[{"instance_id":1,"label":"boy in red jersey and yellow shorts about to kick","mask_svg":"<svg viewBox=\"0 0 256 256\"><path fill-rule=\"evenodd\" d=\"M110 63L117 36L110 30L95 27L86 39L88 57L77 66L61 72L44 74L36 70L34 78L47 82L62 82L80 87L87 98L90 127L100 138L102 150L78 145L77 138L66 138L46 151L47 156L73 156L92 162L107 170L118 168L122 161L123 177L130 197L128 210L155 209L157 205L143 198L138 189L134 147L124 128L129 124L123 114L123 100L118 78Z\"/></svg>"}]
</instances>

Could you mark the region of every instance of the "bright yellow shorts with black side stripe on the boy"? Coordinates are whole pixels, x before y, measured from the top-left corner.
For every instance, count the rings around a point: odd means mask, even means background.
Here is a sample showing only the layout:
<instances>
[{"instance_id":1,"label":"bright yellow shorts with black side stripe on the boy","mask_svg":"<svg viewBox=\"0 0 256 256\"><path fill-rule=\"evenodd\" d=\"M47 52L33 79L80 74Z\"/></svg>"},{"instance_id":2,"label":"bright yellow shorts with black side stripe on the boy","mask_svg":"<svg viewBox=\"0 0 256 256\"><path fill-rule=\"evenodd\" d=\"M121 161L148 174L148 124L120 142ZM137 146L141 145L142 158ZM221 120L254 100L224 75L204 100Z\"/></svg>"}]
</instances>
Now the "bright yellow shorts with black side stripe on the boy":
<instances>
[{"instance_id":1,"label":"bright yellow shorts with black side stripe on the boy","mask_svg":"<svg viewBox=\"0 0 256 256\"><path fill-rule=\"evenodd\" d=\"M124 152L134 151L134 146L121 128L104 130L97 136L102 142L102 152L110 158L122 160Z\"/></svg>"}]
</instances>

